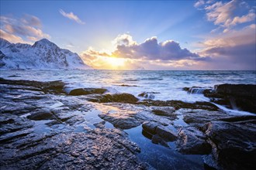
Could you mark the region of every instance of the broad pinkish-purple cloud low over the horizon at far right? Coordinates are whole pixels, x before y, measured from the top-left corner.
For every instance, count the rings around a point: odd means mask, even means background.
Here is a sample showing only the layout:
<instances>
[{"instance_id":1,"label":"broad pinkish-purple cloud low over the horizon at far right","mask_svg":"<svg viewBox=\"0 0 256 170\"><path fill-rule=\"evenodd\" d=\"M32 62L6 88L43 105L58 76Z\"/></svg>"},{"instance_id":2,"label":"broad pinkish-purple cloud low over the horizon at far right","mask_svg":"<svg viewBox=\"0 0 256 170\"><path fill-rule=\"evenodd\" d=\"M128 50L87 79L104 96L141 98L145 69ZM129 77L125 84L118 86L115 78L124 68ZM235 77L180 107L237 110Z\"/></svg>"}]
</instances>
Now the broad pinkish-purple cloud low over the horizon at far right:
<instances>
[{"instance_id":1,"label":"broad pinkish-purple cloud low over the horizon at far right","mask_svg":"<svg viewBox=\"0 0 256 170\"><path fill-rule=\"evenodd\" d=\"M207 39L201 56L211 56L209 69L256 70L256 25Z\"/></svg>"}]
</instances>

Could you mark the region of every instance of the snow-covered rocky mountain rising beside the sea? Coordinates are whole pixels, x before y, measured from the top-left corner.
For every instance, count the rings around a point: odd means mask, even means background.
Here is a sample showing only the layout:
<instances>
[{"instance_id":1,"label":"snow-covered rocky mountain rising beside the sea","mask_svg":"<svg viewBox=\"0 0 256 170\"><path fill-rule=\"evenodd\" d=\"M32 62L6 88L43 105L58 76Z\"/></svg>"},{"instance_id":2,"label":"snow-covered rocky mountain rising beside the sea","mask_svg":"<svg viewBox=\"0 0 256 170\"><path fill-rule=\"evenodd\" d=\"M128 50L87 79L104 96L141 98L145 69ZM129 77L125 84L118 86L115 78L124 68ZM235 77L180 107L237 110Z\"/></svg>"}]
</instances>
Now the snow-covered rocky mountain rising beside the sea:
<instances>
[{"instance_id":1,"label":"snow-covered rocky mountain rising beside the sea","mask_svg":"<svg viewBox=\"0 0 256 170\"><path fill-rule=\"evenodd\" d=\"M90 69L77 53L61 49L48 39L33 44L0 38L0 69Z\"/></svg>"}]
</instances>

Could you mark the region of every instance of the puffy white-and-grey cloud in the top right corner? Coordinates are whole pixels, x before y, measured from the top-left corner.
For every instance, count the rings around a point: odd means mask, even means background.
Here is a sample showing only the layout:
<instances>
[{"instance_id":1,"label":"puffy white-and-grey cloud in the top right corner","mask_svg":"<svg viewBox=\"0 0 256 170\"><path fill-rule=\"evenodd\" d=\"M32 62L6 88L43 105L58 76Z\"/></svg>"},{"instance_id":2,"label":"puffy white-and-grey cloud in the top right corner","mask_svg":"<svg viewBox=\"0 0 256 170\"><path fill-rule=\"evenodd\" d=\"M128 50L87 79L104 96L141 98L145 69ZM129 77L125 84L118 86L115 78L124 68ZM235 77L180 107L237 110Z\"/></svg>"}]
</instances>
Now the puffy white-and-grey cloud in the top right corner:
<instances>
[{"instance_id":1,"label":"puffy white-and-grey cloud in the top right corner","mask_svg":"<svg viewBox=\"0 0 256 170\"><path fill-rule=\"evenodd\" d=\"M211 2L207 3L204 9L208 21L223 28L223 32L229 32L234 26L252 22L255 19L254 8L250 8L247 2L244 1Z\"/></svg>"}]
</instances>

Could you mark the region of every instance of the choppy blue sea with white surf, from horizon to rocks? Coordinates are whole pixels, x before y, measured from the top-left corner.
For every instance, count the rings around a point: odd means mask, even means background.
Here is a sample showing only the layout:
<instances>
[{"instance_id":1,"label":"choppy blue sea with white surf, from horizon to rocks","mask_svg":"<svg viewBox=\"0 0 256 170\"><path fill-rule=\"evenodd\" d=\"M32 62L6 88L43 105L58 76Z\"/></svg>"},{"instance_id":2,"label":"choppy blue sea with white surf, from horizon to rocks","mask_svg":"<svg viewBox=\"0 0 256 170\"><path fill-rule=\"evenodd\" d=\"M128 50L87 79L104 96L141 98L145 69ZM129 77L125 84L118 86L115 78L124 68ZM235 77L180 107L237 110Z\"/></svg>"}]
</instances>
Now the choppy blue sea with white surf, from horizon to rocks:
<instances>
[{"instance_id":1,"label":"choppy blue sea with white surf, from horizon to rocks","mask_svg":"<svg viewBox=\"0 0 256 170\"><path fill-rule=\"evenodd\" d=\"M147 70L0 70L11 80L62 80L67 93L75 88L106 88L108 93L152 93L152 100L206 101L202 93L190 95L184 87L213 88L222 83L256 84L256 71L147 71ZM143 97L139 97L143 100Z\"/></svg>"}]
</instances>

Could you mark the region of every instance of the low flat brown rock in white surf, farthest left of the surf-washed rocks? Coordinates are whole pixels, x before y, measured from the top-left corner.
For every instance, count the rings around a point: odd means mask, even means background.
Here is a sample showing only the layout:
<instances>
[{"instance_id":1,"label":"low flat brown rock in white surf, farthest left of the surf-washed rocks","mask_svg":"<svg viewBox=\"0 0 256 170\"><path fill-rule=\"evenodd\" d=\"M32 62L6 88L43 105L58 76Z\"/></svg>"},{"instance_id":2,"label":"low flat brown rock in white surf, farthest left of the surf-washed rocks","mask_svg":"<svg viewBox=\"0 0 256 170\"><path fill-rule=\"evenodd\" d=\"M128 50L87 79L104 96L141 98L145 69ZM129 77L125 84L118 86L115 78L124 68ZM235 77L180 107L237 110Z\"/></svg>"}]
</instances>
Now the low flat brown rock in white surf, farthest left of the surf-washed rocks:
<instances>
[{"instance_id":1,"label":"low flat brown rock in white surf, farthest left of the surf-washed rocks","mask_svg":"<svg viewBox=\"0 0 256 170\"><path fill-rule=\"evenodd\" d=\"M71 90L68 94L72 96L80 96L80 95L87 95L87 94L93 94L93 93L105 93L106 89L101 88L80 88L80 89L74 89Z\"/></svg>"}]
</instances>

